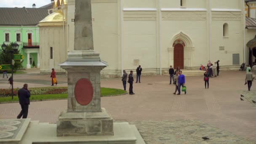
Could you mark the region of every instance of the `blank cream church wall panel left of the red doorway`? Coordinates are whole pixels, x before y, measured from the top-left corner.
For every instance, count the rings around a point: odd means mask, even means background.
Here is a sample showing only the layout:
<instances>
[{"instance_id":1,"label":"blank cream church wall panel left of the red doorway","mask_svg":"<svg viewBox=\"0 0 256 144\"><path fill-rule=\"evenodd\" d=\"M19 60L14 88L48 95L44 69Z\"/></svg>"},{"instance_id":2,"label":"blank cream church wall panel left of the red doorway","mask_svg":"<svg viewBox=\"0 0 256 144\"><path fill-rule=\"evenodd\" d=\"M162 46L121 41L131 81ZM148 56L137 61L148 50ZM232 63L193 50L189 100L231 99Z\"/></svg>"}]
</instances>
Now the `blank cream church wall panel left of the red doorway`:
<instances>
[{"instance_id":1,"label":"blank cream church wall panel left of the red doorway","mask_svg":"<svg viewBox=\"0 0 256 144\"><path fill-rule=\"evenodd\" d=\"M156 21L124 21L125 69L136 69L139 64L146 69L157 67ZM137 63L138 62L138 63Z\"/></svg>"}]
</instances>

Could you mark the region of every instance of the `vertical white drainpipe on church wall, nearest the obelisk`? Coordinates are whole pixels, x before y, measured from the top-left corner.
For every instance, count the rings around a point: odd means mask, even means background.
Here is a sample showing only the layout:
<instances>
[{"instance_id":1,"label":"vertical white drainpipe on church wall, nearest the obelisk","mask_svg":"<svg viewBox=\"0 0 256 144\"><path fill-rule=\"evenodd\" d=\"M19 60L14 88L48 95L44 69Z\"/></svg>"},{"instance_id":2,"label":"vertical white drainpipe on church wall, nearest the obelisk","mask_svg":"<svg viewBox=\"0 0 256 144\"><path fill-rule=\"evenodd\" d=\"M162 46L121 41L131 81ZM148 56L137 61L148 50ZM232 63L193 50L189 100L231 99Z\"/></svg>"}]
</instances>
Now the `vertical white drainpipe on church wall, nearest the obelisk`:
<instances>
[{"instance_id":1,"label":"vertical white drainpipe on church wall, nearest the obelisk","mask_svg":"<svg viewBox=\"0 0 256 144\"><path fill-rule=\"evenodd\" d=\"M123 0L120 0L120 24L121 24L121 76L123 76Z\"/></svg>"}]
</instances>

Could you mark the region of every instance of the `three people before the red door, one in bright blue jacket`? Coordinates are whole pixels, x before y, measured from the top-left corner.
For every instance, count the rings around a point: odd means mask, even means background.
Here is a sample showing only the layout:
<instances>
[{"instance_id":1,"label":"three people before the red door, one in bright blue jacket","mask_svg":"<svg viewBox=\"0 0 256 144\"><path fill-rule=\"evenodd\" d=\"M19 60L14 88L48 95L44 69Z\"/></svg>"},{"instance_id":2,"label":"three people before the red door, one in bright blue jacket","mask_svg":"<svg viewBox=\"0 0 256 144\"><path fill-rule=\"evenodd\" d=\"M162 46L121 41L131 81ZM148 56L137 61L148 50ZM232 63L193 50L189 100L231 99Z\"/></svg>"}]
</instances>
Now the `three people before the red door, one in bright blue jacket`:
<instances>
[{"instance_id":1,"label":"three people before the red door, one in bright blue jacket","mask_svg":"<svg viewBox=\"0 0 256 144\"><path fill-rule=\"evenodd\" d=\"M181 86L183 88L183 91L185 94L187 94L187 88L185 86L185 75L182 74L182 71L180 69L180 67L177 67L176 70L174 71L173 67L170 66L169 69L169 75L170 75L170 85L174 84L175 85L175 92L173 94L176 94L176 92L178 91L177 95L181 94ZM173 80L173 83L172 83Z\"/></svg>"}]
</instances>

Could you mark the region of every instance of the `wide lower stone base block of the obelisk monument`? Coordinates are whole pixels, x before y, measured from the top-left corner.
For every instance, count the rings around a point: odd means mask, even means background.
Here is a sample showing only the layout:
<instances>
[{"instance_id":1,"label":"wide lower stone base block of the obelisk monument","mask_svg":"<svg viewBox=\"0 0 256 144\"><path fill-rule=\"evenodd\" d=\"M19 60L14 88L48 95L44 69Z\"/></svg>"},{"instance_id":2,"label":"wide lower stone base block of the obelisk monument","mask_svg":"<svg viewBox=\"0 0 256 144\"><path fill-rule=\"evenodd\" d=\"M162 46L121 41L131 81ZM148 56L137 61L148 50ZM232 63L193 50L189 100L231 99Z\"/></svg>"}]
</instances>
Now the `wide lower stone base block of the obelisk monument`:
<instances>
[{"instance_id":1,"label":"wide lower stone base block of the obelisk monument","mask_svg":"<svg viewBox=\"0 0 256 144\"><path fill-rule=\"evenodd\" d=\"M64 111L57 121L57 136L104 136L114 135L113 119L102 112Z\"/></svg>"}]
</instances>

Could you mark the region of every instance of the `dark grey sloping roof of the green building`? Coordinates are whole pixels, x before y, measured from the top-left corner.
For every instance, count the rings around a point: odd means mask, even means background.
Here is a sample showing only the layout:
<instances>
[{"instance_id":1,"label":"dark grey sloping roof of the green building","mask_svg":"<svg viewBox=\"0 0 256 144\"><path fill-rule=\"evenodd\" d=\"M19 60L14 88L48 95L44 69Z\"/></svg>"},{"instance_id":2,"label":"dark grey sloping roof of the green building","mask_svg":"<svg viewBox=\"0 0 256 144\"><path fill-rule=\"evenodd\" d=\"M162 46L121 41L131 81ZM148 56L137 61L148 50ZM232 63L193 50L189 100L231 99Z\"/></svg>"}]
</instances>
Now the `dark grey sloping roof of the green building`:
<instances>
[{"instance_id":1,"label":"dark grey sloping roof of the green building","mask_svg":"<svg viewBox=\"0 0 256 144\"><path fill-rule=\"evenodd\" d=\"M0 8L0 25L35 26L46 16L47 8Z\"/></svg>"}]
</instances>

